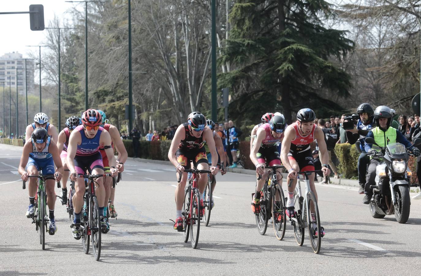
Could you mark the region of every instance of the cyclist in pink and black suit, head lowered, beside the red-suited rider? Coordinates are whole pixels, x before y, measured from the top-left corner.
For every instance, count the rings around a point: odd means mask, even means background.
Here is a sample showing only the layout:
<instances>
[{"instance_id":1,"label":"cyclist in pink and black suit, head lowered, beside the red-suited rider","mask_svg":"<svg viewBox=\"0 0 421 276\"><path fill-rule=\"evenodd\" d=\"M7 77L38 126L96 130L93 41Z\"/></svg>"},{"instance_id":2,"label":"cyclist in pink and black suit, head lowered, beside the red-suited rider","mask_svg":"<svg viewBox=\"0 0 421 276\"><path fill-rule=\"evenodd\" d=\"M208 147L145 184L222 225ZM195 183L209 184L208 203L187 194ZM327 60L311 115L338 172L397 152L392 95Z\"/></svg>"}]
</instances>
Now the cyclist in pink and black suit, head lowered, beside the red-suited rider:
<instances>
[{"instance_id":1,"label":"cyclist in pink and black suit, head lowered, beside the red-suited rider","mask_svg":"<svg viewBox=\"0 0 421 276\"><path fill-rule=\"evenodd\" d=\"M285 119L281 116L273 116L269 123L261 125L256 132L250 151L250 160L256 165L257 176L261 179L256 182L256 192L251 202L251 210L257 214L260 211L260 191L266 181L268 171L265 165L280 166L277 143L282 140L285 130ZM277 179L282 183L282 174L277 172Z\"/></svg>"}]
</instances>

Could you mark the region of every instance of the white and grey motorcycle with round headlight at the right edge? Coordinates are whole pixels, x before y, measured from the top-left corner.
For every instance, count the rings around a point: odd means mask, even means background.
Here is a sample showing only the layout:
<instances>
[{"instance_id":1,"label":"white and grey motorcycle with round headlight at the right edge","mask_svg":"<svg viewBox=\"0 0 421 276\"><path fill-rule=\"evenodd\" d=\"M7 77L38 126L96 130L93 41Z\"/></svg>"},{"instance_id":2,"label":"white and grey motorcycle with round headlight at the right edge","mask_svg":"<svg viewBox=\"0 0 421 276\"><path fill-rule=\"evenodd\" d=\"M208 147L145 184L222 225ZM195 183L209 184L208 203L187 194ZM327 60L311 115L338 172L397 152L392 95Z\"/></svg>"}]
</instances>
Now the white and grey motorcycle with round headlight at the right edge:
<instances>
[{"instance_id":1,"label":"white and grey motorcycle with round headlight at the right edge","mask_svg":"<svg viewBox=\"0 0 421 276\"><path fill-rule=\"evenodd\" d=\"M377 143L373 138L365 138L369 144ZM414 146L421 144L421 139L414 140ZM378 145L377 145L378 146ZM409 156L413 154L401 143L392 143L381 148L381 152L366 154L371 157L383 158L376 167L376 185L373 197L370 200L370 213L373 218L384 218L385 215L394 215L398 223L406 223L410 212L410 176L408 170Z\"/></svg>"}]
</instances>

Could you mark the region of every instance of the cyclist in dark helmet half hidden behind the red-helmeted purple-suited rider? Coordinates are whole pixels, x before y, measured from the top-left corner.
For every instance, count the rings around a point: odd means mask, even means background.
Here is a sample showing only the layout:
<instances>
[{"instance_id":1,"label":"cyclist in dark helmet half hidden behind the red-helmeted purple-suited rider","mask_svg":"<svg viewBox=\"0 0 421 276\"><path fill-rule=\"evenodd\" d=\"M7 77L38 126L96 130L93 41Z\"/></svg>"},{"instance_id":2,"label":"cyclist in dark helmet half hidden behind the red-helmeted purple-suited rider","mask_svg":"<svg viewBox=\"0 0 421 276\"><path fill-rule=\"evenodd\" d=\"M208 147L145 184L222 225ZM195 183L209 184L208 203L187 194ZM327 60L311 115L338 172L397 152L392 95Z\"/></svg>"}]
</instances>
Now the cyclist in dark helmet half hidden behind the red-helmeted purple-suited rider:
<instances>
[{"instance_id":1,"label":"cyclist in dark helmet half hidden behind the red-helmeted purple-suited rider","mask_svg":"<svg viewBox=\"0 0 421 276\"><path fill-rule=\"evenodd\" d=\"M60 131L59 138L57 140L57 148L59 149L61 163L64 168L63 181L61 181L61 201L63 204L67 203L67 179L69 178L69 168L66 165L66 157L67 147L69 146L69 137L70 133L72 133L72 131L81 124L82 121L77 116L67 118L66 127Z\"/></svg>"}]
</instances>

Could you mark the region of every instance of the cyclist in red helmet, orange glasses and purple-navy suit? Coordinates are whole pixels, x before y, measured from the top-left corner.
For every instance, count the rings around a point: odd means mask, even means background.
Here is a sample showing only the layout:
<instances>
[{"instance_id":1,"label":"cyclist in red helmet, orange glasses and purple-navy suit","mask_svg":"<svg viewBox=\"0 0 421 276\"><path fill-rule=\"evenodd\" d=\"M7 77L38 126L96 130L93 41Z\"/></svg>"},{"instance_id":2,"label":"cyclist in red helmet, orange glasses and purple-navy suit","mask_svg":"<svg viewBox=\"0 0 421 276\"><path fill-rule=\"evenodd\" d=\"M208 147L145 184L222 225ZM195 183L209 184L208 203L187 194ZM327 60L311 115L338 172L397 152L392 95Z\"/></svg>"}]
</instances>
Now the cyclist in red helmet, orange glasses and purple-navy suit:
<instances>
[{"instance_id":1,"label":"cyclist in red helmet, orange glasses and purple-navy suit","mask_svg":"<svg viewBox=\"0 0 421 276\"><path fill-rule=\"evenodd\" d=\"M88 109L83 112L82 125L72 131L69 138L69 146L67 148L66 164L70 170L70 179L75 181L75 195L73 196L74 220L72 224L73 237L80 239L81 226L80 214L83 206L83 196L85 193L85 183L83 178L77 178L77 175L84 175L88 170L89 174L104 174L104 165L99 146L105 145L104 150L110 164L116 164L114 152L111 148L111 137L107 130L101 125L101 115L95 109ZM115 166L110 167L113 176L117 175ZM98 185L95 188L95 194L98 199L99 213L104 213L105 189L103 178L97 178ZM101 218L101 231L107 228L104 216Z\"/></svg>"}]
</instances>

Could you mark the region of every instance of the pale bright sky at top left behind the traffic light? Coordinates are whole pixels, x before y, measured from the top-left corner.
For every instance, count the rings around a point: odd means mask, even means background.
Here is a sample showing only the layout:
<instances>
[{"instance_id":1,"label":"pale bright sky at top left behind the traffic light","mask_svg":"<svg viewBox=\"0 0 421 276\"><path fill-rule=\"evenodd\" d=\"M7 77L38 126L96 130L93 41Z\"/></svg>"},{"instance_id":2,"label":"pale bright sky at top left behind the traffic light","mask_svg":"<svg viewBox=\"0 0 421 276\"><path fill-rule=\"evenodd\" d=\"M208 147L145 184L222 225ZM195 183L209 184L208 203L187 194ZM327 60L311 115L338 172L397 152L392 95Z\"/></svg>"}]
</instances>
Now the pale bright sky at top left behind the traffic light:
<instances>
[{"instance_id":1,"label":"pale bright sky at top left behind the traffic light","mask_svg":"<svg viewBox=\"0 0 421 276\"><path fill-rule=\"evenodd\" d=\"M44 6L44 24L49 27L49 21L54 19L54 14L60 19L69 17L66 11L72 7L80 6L82 3L67 3L64 0L0 0L1 12L29 11L29 5L41 4ZM61 20L62 21L62 20ZM18 51L23 57L28 57L29 52L37 53L36 47L25 47L25 45L40 45L45 40L44 31L31 31L29 28L29 13L25 14L0 14L0 56L4 53Z\"/></svg>"}]
</instances>

